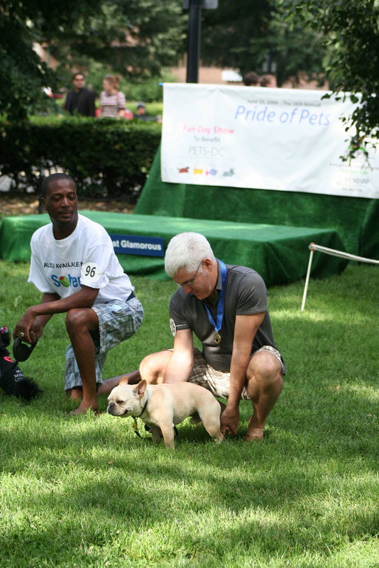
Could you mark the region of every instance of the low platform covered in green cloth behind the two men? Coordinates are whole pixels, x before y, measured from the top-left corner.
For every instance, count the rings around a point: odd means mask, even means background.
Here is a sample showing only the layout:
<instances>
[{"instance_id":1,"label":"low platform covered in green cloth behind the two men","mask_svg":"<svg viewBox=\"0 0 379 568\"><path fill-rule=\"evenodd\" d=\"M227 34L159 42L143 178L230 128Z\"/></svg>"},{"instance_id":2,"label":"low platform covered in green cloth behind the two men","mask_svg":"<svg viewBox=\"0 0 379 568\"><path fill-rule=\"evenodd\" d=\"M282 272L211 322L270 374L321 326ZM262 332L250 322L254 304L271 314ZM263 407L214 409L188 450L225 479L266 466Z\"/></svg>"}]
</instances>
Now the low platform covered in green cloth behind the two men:
<instances>
[{"instance_id":1,"label":"low platform covered in green cloth behind the two men","mask_svg":"<svg viewBox=\"0 0 379 568\"><path fill-rule=\"evenodd\" d=\"M172 236L182 231L202 233L218 258L226 263L254 268L263 276L266 285L303 278L307 273L308 246L312 241L331 249L345 250L336 231L328 229L85 210L81 213L100 223L110 234L161 236L165 247ZM47 214L2 219L0 258L29 261L31 236L38 227L48 222ZM128 274L167 278L162 257L117 256ZM345 266L346 261L341 258L315 253L312 275L328 276L341 272Z\"/></svg>"}]
</instances>

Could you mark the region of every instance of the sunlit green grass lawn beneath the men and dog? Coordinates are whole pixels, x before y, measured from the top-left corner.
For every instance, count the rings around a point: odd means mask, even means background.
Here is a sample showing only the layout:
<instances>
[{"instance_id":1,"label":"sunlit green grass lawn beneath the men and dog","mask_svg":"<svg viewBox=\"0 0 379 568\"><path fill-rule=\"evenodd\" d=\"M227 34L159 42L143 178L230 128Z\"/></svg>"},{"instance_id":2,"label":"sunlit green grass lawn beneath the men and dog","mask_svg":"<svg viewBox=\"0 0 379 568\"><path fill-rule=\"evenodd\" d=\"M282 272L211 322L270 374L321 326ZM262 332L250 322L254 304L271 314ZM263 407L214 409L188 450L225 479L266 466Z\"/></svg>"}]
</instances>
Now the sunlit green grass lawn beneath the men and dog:
<instances>
[{"instance_id":1,"label":"sunlit green grass lawn beneath the men and dog","mask_svg":"<svg viewBox=\"0 0 379 568\"><path fill-rule=\"evenodd\" d=\"M0 262L0 324L38 302L28 265ZM145 307L135 337L109 353L104 377L172 344L175 285L133 278ZM21 364L45 393L30 405L0 394L2 568L378 567L379 272L270 288L285 388L265 440L216 445L179 427L175 451L132 419L68 416L64 315ZM101 399L101 410L106 398Z\"/></svg>"}]
</instances>

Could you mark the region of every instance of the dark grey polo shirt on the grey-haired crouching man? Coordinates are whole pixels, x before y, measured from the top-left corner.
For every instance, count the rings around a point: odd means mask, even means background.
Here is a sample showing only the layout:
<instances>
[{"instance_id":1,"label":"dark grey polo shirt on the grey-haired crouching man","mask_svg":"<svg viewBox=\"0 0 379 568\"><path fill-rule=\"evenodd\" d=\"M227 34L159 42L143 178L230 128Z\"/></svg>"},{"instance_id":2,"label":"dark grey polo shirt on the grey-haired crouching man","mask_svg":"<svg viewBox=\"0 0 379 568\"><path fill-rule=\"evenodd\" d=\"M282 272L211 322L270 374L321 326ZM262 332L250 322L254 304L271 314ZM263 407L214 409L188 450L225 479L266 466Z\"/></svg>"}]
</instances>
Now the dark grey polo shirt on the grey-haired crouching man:
<instances>
[{"instance_id":1,"label":"dark grey polo shirt on the grey-haired crouching man","mask_svg":"<svg viewBox=\"0 0 379 568\"><path fill-rule=\"evenodd\" d=\"M216 289L221 290L221 271ZM170 323L175 329L192 329L202 342L203 355L207 363L218 371L229 372L231 353L233 350L234 325L236 315L251 315L265 312L256 337L254 337L251 353L263 345L275 347L270 315L267 309L267 292L263 278L252 268L246 266L226 265L226 283L224 294L224 315L222 319L221 343L214 342L215 329L209 321L205 300L198 300L191 293L186 294L179 288L172 295L170 302ZM214 322L216 322L217 304L207 304Z\"/></svg>"}]
</instances>

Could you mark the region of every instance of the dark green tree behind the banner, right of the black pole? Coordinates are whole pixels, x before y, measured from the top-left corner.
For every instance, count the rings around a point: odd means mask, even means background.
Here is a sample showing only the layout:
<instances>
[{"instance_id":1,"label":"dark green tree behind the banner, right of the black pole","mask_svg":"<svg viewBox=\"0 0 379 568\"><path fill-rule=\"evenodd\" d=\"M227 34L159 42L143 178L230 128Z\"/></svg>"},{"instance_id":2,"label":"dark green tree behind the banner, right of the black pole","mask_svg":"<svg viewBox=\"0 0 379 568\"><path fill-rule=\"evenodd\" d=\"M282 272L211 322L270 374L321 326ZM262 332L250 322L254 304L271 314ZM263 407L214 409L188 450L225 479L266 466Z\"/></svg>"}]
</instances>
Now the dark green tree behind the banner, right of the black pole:
<instances>
[{"instance_id":1,"label":"dark green tree behind the banner, right of the black pole","mask_svg":"<svg viewBox=\"0 0 379 568\"><path fill-rule=\"evenodd\" d=\"M278 0L219 0L218 9L204 10L202 61L234 67L242 75L270 72L275 63L278 85L320 75L324 53L319 33L285 21L279 8Z\"/></svg>"}]
</instances>

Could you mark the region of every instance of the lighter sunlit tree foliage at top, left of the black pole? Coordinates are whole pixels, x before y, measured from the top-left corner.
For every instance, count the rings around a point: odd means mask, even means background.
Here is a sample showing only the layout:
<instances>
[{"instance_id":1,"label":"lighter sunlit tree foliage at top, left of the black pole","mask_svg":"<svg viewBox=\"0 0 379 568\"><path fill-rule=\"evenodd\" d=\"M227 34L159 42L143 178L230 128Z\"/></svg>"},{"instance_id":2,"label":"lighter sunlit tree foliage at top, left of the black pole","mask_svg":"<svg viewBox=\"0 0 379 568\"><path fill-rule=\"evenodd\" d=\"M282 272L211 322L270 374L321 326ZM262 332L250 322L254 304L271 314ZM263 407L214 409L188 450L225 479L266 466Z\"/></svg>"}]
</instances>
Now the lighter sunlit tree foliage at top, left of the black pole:
<instances>
[{"instance_id":1,"label":"lighter sunlit tree foliage at top, left of the black pole","mask_svg":"<svg viewBox=\"0 0 379 568\"><path fill-rule=\"evenodd\" d=\"M184 47L182 5L177 0L100 0L97 11L56 30L52 55L75 67L84 55L123 77L160 75Z\"/></svg>"}]
</instances>

